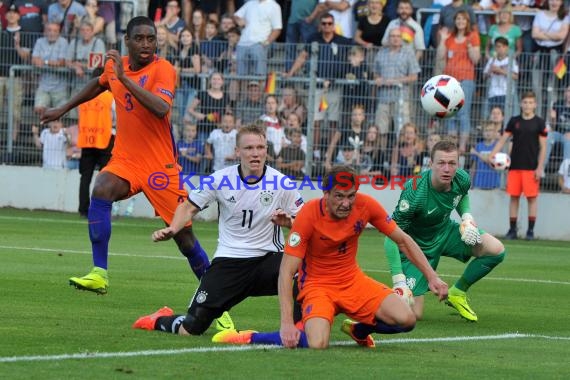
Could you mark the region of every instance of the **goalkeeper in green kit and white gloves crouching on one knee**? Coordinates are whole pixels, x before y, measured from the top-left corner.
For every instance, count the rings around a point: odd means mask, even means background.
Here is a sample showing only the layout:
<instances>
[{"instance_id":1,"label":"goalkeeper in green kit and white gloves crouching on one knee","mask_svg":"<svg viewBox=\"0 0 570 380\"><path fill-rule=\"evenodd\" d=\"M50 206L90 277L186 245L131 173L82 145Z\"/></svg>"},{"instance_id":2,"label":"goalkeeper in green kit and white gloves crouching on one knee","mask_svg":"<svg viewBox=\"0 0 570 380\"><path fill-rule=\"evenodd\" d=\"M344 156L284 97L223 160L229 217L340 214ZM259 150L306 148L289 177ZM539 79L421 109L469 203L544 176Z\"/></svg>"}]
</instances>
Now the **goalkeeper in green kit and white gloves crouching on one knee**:
<instances>
[{"instance_id":1,"label":"goalkeeper in green kit and white gloves crouching on one knee","mask_svg":"<svg viewBox=\"0 0 570 380\"><path fill-rule=\"evenodd\" d=\"M469 174L458 169L459 151L449 140L438 142L431 151L431 169L421 178L406 183L392 218L420 246L433 269L441 256L467 264L455 285L449 289L446 303L468 321L477 314L467 303L467 290L485 277L505 258L505 247L494 236L480 230L469 210ZM461 223L450 219L456 210ZM398 246L386 238L386 255L394 282L394 290L411 305L421 319L423 295L429 290L420 270ZM413 294L413 296L412 296Z\"/></svg>"}]
</instances>

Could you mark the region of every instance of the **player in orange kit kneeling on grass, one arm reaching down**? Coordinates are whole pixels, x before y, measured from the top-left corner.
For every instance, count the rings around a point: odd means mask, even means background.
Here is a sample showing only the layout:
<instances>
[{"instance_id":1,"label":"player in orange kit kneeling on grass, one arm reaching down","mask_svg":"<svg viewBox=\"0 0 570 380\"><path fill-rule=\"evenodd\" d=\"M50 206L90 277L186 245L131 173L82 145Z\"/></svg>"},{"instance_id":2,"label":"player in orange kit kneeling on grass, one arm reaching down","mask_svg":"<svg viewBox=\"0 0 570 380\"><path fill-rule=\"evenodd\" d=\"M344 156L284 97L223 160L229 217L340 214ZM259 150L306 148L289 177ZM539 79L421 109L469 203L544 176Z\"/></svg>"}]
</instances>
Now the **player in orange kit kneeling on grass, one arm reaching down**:
<instances>
[{"instance_id":1,"label":"player in orange kit kneeling on grass, one arm reaching down","mask_svg":"<svg viewBox=\"0 0 570 380\"><path fill-rule=\"evenodd\" d=\"M358 193L357 175L347 166L333 167L324 179L324 196L305 204L289 234L279 271L281 329L272 333L227 330L212 341L233 344L275 344L326 348L335 315L347 319L341 330L359 345L374 347L373 332L395 334L414 328L416 318L388 286L366 276L356 262L358 239L370 223L398 243L421 268L440 300L447 284L430 267L418 245L369 195ZM299 271L303 329L293 322L292 278Z\"/></svg>"}]
</instances>

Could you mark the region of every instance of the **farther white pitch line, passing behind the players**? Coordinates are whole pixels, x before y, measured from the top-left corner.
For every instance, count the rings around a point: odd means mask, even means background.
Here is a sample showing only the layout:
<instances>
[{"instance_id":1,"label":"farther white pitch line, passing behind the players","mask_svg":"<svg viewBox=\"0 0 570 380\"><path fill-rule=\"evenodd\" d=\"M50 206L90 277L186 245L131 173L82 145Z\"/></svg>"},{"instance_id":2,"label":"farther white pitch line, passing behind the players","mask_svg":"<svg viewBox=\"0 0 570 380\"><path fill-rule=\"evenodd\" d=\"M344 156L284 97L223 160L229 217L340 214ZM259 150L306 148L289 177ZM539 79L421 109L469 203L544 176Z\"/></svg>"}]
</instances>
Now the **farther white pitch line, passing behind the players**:
<instances>
[{"instance_id":1,"label":"farther white pitch line, passing behind the players","mask_svg":"<svg viewBox=\"0 0 570 380\"><path fill-rule=\"evenodd\" d=\"M54 249L54 248L38 248L38 247L18 247L18 246L8 246L0 245L0 249L11 249L11 250L22 250L22 251L37 251L37 252L49 252L49 253L79 253L79 254L91 254L91 251L79 251L74 249ZM186 260L182 256L167 256L167 255L137 255L132 253L122 253L122 252L111 252L110 256L122 256L122 257L139 257L146 259L168 259L168 260ZM365 272L372 273L388 273L387 270L381 269L363 269ZM441 277L458 277L457 274L445 274L440 273ZM512 281L512 282L528 282L536 284L553 284L553 285L570 285L570 281L556 281L556 280L537 280L529 278L510 278L510 277L493 277L487 276L486 280L494 281Z\"/></svg>"}]
</instances>

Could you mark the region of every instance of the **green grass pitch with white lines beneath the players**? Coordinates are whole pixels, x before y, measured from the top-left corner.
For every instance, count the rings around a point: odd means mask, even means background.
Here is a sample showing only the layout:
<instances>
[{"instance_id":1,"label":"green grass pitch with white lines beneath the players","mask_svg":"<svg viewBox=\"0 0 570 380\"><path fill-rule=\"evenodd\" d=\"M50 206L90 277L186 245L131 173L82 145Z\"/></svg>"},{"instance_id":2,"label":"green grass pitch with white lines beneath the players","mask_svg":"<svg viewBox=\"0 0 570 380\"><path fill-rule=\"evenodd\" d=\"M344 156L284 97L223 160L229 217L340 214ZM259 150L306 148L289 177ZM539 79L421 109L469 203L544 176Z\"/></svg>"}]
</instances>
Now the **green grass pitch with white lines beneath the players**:
<instances>
[{"instance_id":1,"label":"green grass pitch with white lines beneath the players","mask_svg":"<svg viewBox=\"0 0 570 380\"><path fill-rule=\"evenodd\" d=\"M152 243L159 220L119 219L110 245L106 296L75 290L91 268L86 221L74 214L0 209L0 378L2 379L567 379L570 374L570 244L506 242L507 257L470 291L478 323L426 300L408 334L375 335L356 346L332 330L325 351L225 346L204 336L133 330L137 317L168 305L185 312L197 280L172 242ZM196 223L208 253L217 225ZM390 283L382 237L366 231L359 262ZM463 264L443 258L450 285ZM276 297L232 309L238 328L279 327Z\"/></svg>"}]
</instances>

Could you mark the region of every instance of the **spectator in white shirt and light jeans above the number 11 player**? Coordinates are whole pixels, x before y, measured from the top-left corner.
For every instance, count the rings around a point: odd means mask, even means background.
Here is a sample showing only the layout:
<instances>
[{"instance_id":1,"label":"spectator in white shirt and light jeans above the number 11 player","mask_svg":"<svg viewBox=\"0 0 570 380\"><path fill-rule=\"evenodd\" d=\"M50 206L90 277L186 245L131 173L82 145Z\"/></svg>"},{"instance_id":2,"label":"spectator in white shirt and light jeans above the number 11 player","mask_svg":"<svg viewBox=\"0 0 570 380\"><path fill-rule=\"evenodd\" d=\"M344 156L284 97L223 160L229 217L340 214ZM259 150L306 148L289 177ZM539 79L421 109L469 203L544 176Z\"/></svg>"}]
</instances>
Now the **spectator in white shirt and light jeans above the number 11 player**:
<instances>
[{"instance_id":1,"label":"spectator in white shirt and light jeans above the number 11 player","mask_svg":"<svg viewBox=\"0 0 570 380\"><path fill-rule=\"evenodd\" d=\"M242 28L236 51L238 75L266 75L269 46L283 29L281 7L275 0L251 0L234 19Z\"/></svg>"}]
</instances>

